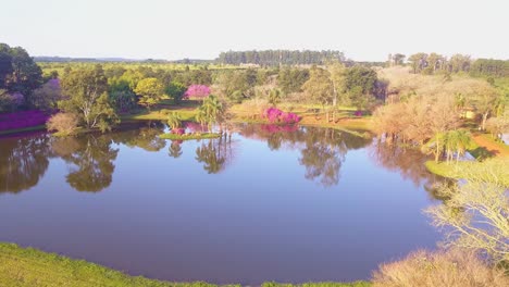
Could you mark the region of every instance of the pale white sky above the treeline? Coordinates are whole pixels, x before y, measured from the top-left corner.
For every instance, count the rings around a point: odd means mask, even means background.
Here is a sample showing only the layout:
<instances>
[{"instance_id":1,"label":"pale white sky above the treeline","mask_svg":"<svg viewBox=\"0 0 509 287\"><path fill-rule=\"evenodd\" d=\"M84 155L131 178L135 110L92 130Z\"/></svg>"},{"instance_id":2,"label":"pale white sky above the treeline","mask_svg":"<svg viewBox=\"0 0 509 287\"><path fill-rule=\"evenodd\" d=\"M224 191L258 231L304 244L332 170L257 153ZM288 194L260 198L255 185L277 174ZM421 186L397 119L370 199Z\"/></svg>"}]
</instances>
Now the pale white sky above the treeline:
<instances>
[{"instance_id":1,"label":"pale white sky above the treeline","mask_svg":"<svg viewBox=\"0 0 509 287\"><path fill-rule=\"evenodd\" d=\"M509 59L509 0L0 0L0 42L32 55L214 59L339 50Z\"/></svg>"}]
</instances>

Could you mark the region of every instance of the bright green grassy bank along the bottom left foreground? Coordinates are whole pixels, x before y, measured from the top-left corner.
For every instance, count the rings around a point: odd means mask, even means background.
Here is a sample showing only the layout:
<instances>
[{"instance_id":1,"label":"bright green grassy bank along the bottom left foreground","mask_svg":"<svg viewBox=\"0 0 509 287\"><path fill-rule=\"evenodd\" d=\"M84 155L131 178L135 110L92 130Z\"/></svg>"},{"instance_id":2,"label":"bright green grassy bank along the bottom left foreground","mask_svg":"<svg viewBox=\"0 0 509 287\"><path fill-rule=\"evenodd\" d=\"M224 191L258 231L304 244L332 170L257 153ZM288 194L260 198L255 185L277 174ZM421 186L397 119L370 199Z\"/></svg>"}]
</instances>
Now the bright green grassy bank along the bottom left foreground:
<instances>
[{"instance_id":1,"label":"bright green grassy bank along the bottom left foreground","mask_svg":"<svg viewBox=\"0 0 509 287\"><path fill-rule=\"evenodd\" d=\"M103 267L83 260L73 260L55 253L33 248L21 248L0 242L0 286L53 287L53 286L173 286L216 287L202 282L170 283L145 277L133 277L122 272ZM240 286L240 285L229 285ZM290 287L297 285L264 283L265 287ZM367 287L369 283L310 283L302 287Z\"/></svg>"}]
</instances>

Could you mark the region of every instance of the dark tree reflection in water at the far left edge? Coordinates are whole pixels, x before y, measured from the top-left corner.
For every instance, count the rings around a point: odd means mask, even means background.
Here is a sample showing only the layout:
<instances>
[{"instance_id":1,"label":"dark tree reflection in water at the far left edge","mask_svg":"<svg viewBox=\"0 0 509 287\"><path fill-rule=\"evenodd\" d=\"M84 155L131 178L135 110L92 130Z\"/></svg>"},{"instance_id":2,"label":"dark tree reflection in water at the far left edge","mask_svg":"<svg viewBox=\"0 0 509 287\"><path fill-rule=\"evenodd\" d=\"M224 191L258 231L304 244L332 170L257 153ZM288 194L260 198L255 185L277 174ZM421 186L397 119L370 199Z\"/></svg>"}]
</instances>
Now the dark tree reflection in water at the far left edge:
<instances>
[{"instance_id":1,"label":"dark tree reflection in water at the far left edge","mask_svg":"<svg viewBox=\"0 0 509 287\"><path fill-rule=\"evenodd\" d=\"M49 165L47 135L0 139L0 192L20 192L37 185Z\"/></svg>"}]
</instances>

